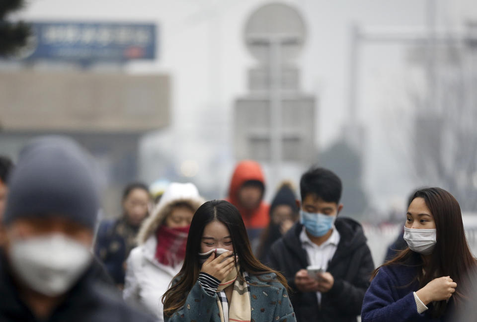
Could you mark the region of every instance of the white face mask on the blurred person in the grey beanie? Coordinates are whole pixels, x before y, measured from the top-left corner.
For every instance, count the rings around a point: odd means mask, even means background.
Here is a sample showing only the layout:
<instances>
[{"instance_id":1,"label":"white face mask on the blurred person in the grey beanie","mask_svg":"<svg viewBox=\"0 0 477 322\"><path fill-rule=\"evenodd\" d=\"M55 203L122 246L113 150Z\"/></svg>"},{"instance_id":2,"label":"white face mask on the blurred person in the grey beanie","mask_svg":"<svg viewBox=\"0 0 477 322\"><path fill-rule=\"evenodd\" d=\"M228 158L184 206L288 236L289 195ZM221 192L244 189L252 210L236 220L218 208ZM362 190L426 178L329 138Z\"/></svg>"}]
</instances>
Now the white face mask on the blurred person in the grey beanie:
<instances>
[{"instance_id":1,"label":"white face mask on the blurred person in the grey beanie","mask_svg":"<svg viewBox=\"0 0 477 322\"><path fill-rule=\"evenodd\" d=\"M66 293L86 270L92 255L83 244L63 234L13 240L13 271L32 290L48 296Z\"/></svg>"}]
</instances>

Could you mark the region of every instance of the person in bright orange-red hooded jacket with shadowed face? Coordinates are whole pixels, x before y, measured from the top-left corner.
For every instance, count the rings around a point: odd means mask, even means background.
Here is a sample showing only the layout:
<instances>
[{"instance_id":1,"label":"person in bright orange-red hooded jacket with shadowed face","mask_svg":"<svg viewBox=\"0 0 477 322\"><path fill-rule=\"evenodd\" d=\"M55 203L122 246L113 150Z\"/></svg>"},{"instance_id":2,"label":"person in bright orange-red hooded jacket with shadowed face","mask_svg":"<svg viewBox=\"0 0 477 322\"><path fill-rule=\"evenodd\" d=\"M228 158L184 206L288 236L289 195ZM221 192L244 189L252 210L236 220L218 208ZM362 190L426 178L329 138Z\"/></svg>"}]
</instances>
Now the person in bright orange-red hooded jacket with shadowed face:
<instances>
[{"instance_id":1,"label":"person in bright orange-red hooded jacket with shadowed face","mask_svg":"<svg viewBox=\"0 0 477 322\"><path fill-rule=\"evenodd\" d=\"M250 241L268 226L270 205L263 201L265 177L258 162L244 160L237 164L230 183L227 201L239 209Z\"/></svg>"}]
</instances>

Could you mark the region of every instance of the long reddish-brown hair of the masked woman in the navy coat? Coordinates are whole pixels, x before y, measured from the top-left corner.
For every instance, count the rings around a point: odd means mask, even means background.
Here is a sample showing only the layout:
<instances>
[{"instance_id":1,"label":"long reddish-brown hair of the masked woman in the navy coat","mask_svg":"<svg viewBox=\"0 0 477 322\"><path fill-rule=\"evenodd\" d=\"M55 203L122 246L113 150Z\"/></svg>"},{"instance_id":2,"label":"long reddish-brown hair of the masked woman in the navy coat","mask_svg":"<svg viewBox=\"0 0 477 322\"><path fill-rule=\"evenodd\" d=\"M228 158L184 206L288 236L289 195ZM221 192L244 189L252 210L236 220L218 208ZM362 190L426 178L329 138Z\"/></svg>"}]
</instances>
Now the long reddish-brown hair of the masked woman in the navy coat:
<instances>
[{"instance_id":1,"label":"long reddish-brown hair of the masked woman in the navy coat","mask_svg":"<svg viewBox=\"0 0 477 322\"><path fill-rule=\"evenodd\" d=\"M476 259L473 257L467 243L462 223L461 208L457 200L446 190L441 188L423 188L414 192L411 201L422 198L429 208L436 224L436 245L426 266L423 266L422 257L410 250L409 247L401 250L394 259L391 259L374 270L373 279L378 270L389 265L417 265L417 276L412 280L419 281L419 287L424 287L439 276L450 276L457 283L458 288L452 299L459 303L471 294L472 288L467 277L476 270ZM425 273L422 271L425 269ZM440 317L447 307L446 301L434 305L433 316Z\"/></svg>"}]
</instances>

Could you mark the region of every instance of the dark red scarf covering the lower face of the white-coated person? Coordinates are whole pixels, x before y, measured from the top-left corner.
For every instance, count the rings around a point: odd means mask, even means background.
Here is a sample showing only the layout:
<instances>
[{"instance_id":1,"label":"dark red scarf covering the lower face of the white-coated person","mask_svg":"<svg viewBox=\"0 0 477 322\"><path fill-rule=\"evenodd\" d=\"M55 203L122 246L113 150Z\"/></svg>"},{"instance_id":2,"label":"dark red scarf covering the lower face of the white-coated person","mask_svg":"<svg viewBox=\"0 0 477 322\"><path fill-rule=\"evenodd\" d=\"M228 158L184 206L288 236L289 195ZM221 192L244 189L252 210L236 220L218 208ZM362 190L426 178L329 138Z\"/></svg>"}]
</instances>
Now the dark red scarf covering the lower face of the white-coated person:
<instances>
[{"instance_id":1,"label":"dark red scarf covering the lower face of the white-coated person","mask_svg":"<svg viewBox=\"0 0 477 322\"><path fill-rule=\"evenodd\" d=\"M159 226L156 231L156 259L159 263L174 267L184 260L189 228Z\"/></svg>"}]
</instances>

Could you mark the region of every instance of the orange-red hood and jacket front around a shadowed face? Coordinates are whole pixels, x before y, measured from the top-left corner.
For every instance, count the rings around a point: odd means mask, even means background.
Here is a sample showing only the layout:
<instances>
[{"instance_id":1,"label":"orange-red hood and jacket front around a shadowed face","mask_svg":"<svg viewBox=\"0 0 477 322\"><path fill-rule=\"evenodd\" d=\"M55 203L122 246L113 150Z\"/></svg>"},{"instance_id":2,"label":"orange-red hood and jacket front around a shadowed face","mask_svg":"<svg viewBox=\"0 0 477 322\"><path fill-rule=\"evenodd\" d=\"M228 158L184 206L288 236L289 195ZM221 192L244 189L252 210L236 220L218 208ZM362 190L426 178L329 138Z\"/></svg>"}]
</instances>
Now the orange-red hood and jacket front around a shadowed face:
<instances>
[{"instance_id":1,"label":"orange-red hood and jacket front around a shadowed face","mask_svg":"<svg viewBox=\"0 0 477 322\"><path fill-rule=\"evenodd\" d=\"M262 172L262 167L256 161L244 160L240 161L234 171L232 180L230 182L229 197L227 198L234 206L236 206L242 215L245 227L247 228L263 228L268 225L269 206L265 202L260 202L257 209L253 211L244 210L238 199L238 192L240 187L249 180L257 180L265 186L265 177Z\"/></svg>"}]
</instances>

